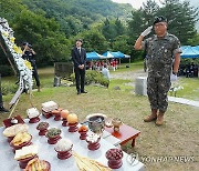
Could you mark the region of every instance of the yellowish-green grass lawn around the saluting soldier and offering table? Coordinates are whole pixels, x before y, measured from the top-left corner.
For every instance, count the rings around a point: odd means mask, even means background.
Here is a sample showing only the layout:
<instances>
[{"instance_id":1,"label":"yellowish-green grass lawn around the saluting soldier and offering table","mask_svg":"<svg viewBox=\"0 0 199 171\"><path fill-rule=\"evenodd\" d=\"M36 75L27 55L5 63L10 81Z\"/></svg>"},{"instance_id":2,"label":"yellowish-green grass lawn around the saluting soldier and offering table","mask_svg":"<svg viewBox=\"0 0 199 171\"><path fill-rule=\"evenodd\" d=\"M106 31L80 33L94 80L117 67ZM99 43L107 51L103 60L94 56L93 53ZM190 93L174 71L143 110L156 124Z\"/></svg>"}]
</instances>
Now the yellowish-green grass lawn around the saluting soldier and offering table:
<instances>
[{"instance_id":1,"label":"yellowish-green grass lawn around the saluting soldier and offering table","mask_svg":"<svg viewBox=\"0 0 199 171\"><path fill-rule=\"evenodd\" d=\"M137 68L137 69L136 69ZM129 69L125 67L121 72L130 70L139 70L142 66L134 64ZM116 72L119 72L116 71ZM126 86L130 80L114 79L111 81L109 88L86 86L87 94L76 95L75 87L57 87L53 88L53 70L45 68L40 70L40 78L42 82L42 91L33 91L33 104L41 110L41 103L53 100L61 108L75 112L80 121L82 121L90 113L104 113L109 118L121 118L124 123L134 127L140 131L139 137L136 139L136 147L133 149L130 142L123 145L123 150L127 153L137 153L140 160L144 157L193 157L195 162L149 162L142 161L146 165L146 170L159 171L188 171L198 170L198 125L199 125L199 109L169 102L168 111L165 115L165 124L156 127L154 122L145 123L143 118L149 114L149 103L147 97L135 95L132 93L133 88ZM9 79L8 79L9 80ZM8 81L3 78L3 81ZM190 81L191 80L191 81ZM184 82L185 81L185 82ZM12 81L13 82L13 81ZM180 79L184 86L182 94L187 99L196 98L198 92L197 79ZM195 83L195 87L192 84ZM186 87L186 84L188 84ZM119 86L121 90L113 88ZM191 92L188 91L189 86ZM3 97L6 107L13 94ZM18 107L15 108L14 115L21 114L27 118L27 109L31 108L29 104L29 95L22 94ZM0 114L0 121L6 119L8 114Z\"/></svg>"}]
</instances>

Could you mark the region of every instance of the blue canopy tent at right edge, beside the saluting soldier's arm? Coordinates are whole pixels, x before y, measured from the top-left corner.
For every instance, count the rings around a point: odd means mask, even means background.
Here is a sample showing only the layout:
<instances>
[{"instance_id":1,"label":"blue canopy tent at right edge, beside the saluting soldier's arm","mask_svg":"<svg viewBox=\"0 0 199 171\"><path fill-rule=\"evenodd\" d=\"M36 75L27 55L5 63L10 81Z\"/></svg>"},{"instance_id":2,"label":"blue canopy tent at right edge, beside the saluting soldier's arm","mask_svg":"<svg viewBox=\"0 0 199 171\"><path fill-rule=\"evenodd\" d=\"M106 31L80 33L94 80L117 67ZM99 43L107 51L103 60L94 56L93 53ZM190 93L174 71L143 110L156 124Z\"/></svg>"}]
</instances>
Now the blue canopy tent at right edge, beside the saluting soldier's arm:
<instances>
[{"instance_id":1,"label":"blue canopy tent at right edge, beside the saluting soldier's arm","mask_svg":"<svg viewBox=\"0 0 199 171\"><path fill-rule=\"evenodd\" d=\"M181 58L199 58L199 48L185 46L180 48L182 53L180 54Z\"/></svg>"}]
</instances>

